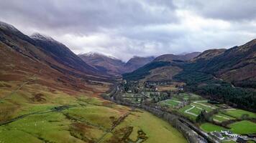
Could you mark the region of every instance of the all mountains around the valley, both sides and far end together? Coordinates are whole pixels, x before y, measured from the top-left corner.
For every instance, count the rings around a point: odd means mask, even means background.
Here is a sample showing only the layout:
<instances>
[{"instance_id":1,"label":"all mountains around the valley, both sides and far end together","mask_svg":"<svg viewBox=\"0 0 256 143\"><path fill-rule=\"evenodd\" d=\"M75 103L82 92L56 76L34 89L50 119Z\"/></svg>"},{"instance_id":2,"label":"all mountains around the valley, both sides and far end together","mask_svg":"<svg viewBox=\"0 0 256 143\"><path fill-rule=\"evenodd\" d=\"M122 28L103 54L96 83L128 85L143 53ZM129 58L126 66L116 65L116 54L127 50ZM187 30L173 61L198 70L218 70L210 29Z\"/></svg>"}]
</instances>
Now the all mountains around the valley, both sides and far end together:
<instances>
[{"instance_id":1,"label":"all mountains around the valley, both sides and far end together","mask_svg":"<svg viewBox=\"0 0 256 143\"><path fill-rule=\"evenodd\" d=\"M232 106L256 109L256 39L230 49L203 53L134 56L127 63L99 53L76 55L42 34L27 36L0 22L0 80L26 81L68 90L127 80L185 82L186 89ZM129 72L129 73L127 73Z\"/></svg>"}]
</instances>

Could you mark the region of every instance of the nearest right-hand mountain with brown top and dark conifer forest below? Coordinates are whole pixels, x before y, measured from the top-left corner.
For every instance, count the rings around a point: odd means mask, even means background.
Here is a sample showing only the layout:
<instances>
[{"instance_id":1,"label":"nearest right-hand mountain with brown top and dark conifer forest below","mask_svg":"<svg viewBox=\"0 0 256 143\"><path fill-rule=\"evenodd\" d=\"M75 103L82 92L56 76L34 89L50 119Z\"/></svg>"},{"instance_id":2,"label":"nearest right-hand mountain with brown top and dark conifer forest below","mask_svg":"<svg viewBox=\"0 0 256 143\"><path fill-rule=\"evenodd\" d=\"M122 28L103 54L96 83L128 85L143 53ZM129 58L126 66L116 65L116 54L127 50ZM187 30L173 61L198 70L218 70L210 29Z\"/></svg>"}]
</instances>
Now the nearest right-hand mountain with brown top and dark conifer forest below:
<instances>
[{"instance_id":1,"label":"nearest right-hand mountain with brown top and dark conifer forest below","mask_svg":"<svg viewBox=\"0 0 256 143\"><path fill-rule=\"evenodd\" d=\"M190 92L256 112L256 39L205 51L180 68L174 79L186 82Z\"/></svg>"}]
</instances>

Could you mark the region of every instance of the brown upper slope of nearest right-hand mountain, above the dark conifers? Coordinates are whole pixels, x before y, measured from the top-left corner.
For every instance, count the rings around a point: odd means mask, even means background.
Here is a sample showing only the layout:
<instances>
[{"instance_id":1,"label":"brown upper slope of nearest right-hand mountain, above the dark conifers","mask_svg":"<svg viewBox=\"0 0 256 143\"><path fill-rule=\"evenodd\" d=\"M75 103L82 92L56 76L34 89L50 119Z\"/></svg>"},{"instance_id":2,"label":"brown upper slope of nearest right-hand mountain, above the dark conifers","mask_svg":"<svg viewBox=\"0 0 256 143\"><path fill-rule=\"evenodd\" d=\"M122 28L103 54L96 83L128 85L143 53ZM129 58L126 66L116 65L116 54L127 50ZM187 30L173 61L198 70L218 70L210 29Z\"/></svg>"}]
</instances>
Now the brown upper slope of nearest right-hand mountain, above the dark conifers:
<instances>
[{"instance_id":1,"label":"brown upper slope of nearest right-hand mountain, above the dark conifers","mask_svg":"<svg viewBox=\"0 0 256 143\"><path fill-rule=\"evenodd\" d=\"M227 50L204 51L191 60L191 67L238 87L256 88L256 39Z\"/></svg>"}]
</instances>

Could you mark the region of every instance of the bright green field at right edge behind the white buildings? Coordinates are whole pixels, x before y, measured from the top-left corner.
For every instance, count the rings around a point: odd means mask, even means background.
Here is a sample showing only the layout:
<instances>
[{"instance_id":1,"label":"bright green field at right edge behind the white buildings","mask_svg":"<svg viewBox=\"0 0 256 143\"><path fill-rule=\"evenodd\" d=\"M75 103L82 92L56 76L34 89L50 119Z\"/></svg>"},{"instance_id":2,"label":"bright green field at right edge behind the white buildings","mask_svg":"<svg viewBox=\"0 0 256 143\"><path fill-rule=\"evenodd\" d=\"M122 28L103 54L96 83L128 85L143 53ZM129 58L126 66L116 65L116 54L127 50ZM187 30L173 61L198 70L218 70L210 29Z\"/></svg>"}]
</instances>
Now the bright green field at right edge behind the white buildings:
<instances>
[{"instance_id":1,"label":"bright green field at right edge behind the white buildings","mask_svg":"<svg viewBox=\"0 0 256 143\"><path fill-rule=\"evenodd\" d=\"M229 124L231 131L237 134L255 134L256 133L256 124L250 121L241 121Z\"/></svg>"}]
</instances>

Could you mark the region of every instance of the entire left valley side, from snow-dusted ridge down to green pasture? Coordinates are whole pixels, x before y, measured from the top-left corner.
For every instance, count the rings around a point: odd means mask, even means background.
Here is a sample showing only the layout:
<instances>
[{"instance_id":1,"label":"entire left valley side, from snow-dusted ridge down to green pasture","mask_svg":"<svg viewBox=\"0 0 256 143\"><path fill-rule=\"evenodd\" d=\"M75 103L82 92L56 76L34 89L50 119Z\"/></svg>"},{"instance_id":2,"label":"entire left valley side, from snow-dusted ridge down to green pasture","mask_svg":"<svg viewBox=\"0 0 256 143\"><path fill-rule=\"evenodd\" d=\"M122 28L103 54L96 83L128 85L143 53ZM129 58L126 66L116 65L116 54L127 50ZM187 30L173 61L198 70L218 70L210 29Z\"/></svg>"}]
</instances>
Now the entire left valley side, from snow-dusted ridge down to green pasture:
<instances>
[{"instance_id":1,"label":"entire left valley side, from snow-dusted ridge down to green pasture","mask_svg":"<svg viewBox=\"0 0 256 143\"><path fill-rule=\"evenodd\" d=\"M97 98L114 79L57 41L32 38L0 23L0 142L186 142L148 112Z\"/></svg>"}]
</instances>

